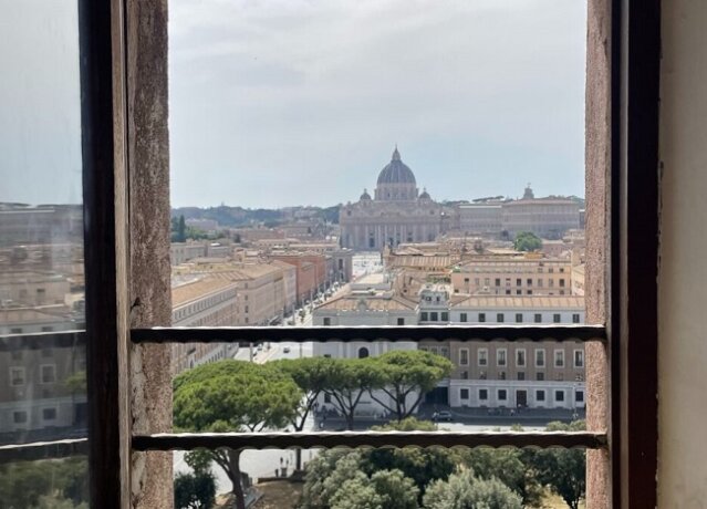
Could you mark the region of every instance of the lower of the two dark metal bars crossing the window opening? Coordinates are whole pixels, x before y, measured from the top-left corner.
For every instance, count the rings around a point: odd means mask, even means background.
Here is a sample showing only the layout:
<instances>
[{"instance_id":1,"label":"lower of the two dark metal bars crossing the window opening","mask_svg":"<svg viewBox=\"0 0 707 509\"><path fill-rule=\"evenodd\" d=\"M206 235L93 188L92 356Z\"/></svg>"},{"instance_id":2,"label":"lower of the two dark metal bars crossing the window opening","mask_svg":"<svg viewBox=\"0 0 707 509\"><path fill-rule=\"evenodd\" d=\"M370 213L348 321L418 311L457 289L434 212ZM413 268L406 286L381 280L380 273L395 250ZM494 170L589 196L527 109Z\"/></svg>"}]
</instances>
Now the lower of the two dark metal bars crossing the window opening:
<instances>
[{"instance_id":1,"label":"lower of the two dark metal bars crossing the window opening","mask_svg":"<svg viewBox=\"0 0 707 509\"><path fill-rule=\"evenodd\" d=\"M135 450L285 449L300 447L584 447L606 446L606 434L592 432L340 432L340 433L185 433L136 435Z\"/></svg>"}]
</instances>

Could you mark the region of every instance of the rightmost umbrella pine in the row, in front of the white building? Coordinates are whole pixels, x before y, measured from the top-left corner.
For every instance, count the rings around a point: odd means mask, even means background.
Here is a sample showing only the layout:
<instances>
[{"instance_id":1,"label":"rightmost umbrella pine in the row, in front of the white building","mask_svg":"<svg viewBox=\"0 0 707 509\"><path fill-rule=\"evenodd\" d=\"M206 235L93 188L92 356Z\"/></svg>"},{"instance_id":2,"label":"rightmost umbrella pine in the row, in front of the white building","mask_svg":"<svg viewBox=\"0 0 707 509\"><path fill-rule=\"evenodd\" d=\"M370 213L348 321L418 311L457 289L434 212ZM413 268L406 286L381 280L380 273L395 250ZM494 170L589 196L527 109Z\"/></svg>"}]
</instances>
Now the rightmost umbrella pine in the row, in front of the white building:
<instances>
[{"instance_id":1,"label":"rightmost umbrella pine in the row, in front of the white building","mask_svg":"<svg viewBox=\"0 0 707 509\"><path fill-rule=\"evenodd\" d=\"M368 389L371 397L395 414L398 420L410 416L425 394L454 370L454 364L447 359L422 350L394 350L368 362L376 366L376 380ZM394 403L377 398L375 389L383 391ZM416 397L408 404L412 394L416 394Z\"/></svg>"}]
</instances>

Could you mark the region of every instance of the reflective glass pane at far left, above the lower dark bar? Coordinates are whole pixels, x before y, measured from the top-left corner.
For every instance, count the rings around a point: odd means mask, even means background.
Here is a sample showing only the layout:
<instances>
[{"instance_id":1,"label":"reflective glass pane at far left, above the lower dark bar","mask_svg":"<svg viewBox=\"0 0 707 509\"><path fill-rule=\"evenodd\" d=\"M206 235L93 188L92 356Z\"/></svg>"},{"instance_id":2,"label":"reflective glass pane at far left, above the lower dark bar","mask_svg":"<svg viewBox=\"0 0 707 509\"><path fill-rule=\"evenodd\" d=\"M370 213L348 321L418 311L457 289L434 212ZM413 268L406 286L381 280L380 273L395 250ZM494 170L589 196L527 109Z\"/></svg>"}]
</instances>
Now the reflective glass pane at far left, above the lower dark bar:
<instances>
[{"instance_id":1,"label":"reflective glass pane at far left, above the lower dark bar","mask_svg":"<svg viewBox=\"0 0 707 509\"><path fill-rule=\"evenodd\" d=\"M85 436L77 7L0 10L0 443Z\"/></svg>"}]
</instances>

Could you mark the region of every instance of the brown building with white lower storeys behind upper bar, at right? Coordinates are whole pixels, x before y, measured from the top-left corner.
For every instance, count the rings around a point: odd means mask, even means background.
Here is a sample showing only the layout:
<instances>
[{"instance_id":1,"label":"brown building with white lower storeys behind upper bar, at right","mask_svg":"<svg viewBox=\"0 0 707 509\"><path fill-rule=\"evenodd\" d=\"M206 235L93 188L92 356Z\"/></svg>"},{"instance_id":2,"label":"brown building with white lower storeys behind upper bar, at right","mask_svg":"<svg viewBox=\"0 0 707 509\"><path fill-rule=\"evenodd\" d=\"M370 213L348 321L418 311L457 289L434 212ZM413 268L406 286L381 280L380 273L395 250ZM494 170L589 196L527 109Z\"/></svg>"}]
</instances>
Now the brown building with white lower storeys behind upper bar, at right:
<instances>
[{"instance_id":1,"label":"brown building with white lower storeys behind upper bar, at right","mask_svg":"<svg viewBox=\"0 0 707 509\"><path fill-rule=\"evenodd\" d=\"M435 293L420 293L429 294ZM472 295L451 302L448 310L445 323L458 325L581 324L585 318L581 297ZM428 396L430 401L489 408L584 406L581 342L450 341L422 342L419 347L444 355L455 365L450 378Z\"/></svg>"}]
</instances>

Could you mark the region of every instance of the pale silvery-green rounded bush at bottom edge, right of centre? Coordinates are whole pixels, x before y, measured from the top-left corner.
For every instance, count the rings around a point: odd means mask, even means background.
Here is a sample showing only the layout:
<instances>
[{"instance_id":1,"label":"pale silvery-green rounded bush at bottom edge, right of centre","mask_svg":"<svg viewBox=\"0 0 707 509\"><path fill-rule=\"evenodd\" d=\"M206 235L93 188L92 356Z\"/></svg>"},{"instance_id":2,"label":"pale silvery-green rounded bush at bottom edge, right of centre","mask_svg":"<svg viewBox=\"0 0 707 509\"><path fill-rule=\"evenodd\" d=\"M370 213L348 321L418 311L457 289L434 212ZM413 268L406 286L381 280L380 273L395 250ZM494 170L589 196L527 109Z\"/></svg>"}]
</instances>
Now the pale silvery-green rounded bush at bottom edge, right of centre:
<instances>
[{"instance_id":1,"label":"pale silvery-green rounded bush at bottom edge, right of centre","mask_svg":"<svg viewBox=\"0 0 707 509\"><path fill-rule=\"evenodd\" d=\"M434 481L423 497L425 509L521 509L521 499L496 478L479 479L462 469Z\"/></svg>"}]
</instances>

